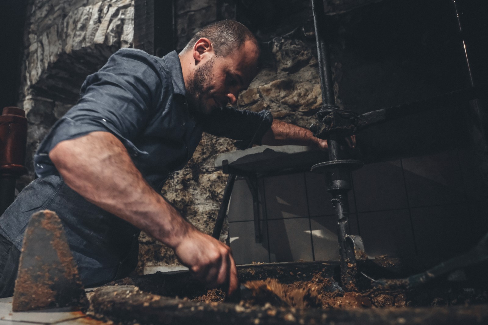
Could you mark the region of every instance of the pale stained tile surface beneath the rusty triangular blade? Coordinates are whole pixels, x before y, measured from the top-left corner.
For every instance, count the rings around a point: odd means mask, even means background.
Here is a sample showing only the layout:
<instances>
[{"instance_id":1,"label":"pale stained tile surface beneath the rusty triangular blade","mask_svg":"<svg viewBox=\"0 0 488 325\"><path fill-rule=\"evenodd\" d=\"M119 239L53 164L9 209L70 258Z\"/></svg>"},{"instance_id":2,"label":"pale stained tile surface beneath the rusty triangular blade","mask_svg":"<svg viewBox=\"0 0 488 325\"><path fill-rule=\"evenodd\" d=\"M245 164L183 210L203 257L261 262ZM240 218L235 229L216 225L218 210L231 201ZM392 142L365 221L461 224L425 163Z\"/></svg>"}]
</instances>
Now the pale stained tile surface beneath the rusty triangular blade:
<instances>
[{"instance_id":1,"label":"pale stained tile surface beneath the rusty triangular blade","mask_svg":"<svg viewBox=\"0 0 488 325\"><path fill-rule=\"evenodd\" d=\"M80 311L70 308L47 309L43 311L12 311L12 297L0 299L0 325L100 325L103 322L94 320Z\"/></svg>"}]
</instances>

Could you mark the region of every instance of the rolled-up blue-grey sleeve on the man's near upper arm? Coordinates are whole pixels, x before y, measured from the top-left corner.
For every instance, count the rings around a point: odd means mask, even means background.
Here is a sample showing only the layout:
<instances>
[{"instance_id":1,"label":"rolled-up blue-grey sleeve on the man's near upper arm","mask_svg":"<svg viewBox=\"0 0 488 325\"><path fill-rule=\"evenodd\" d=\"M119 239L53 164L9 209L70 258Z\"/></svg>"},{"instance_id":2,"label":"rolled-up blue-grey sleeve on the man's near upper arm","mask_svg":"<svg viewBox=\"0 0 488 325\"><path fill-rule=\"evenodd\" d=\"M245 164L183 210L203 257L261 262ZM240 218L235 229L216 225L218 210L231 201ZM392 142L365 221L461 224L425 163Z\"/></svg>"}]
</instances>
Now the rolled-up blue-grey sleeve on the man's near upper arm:
<instances>
[{"instance_id":1,"label":"rolled-up blue-grey sleeve on the man's near upper arm","mask_svg":"<svg viewBox=\"0 0 488 325\"><path fill-rule=\"evenodd\" d=\"M147 53L122 49L112 55L97 73L86 78L80 100L58 120L34 156L38 176L57 174L49 152L61 141L91 132L110 132L131 155L139 151L131 139L139 134L159 105L164 72ZM170 82L169 82L170 83Z\"/></svg>"}]
</instances>

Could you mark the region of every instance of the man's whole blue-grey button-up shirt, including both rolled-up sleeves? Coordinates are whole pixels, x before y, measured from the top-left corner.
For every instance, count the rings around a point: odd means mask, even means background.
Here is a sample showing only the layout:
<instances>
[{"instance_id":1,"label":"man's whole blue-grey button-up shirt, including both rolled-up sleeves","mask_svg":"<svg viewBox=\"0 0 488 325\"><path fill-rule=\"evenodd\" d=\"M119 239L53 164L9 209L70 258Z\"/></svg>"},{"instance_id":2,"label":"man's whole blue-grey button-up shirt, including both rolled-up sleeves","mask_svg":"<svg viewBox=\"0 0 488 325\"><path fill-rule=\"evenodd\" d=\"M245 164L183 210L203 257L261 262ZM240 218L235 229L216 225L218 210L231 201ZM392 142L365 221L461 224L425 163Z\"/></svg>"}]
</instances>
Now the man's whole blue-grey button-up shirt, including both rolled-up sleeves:
<instances>
[{"instance_id":1,"label":"man's whole blue-grey button-up shirt, including both rolled-up sleeves","mask_svg":"<svg viewBox=\"0 0 488 325\"><path fill-rule=\"evenodd\" d=\"M0 234L18 249L32 213L54 210L86 286L121 277L135 268L140 230L71 190L49 159L60 141L94 131L116 135L147 182L161 191L168 173L191 158L202 132L259 144L272 117L224 108L200 115L188 107L176 52L163 58L135 49L111 56L81 87L80 101L53 126L35 157L40 178L29 184L0 217ZM130 187L130 184L127 184ZM47 245L47 243L46 243Z\"/></svg>"}]
</instances>

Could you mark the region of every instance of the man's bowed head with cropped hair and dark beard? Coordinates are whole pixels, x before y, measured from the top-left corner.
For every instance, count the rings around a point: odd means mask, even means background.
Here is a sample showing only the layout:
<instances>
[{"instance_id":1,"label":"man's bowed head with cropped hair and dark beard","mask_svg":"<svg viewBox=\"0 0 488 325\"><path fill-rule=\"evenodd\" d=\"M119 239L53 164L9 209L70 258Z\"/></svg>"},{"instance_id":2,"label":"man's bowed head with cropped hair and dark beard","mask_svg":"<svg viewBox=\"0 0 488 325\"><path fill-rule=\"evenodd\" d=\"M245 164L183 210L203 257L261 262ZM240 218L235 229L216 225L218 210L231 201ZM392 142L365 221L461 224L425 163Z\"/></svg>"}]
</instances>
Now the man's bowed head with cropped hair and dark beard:
<instances>
[{"instance_id":1,"label":"man's bowed head with cropped hair and dark beard","mask_svg":"<svg viewBox=\"0 0 488 325\"><path fill-rule=\"evenodd\" d=\"M259 46L241 23L203 27L180 53L187 98L202 113L235 104L258 72Z\"/></svg>"}]
</instances>

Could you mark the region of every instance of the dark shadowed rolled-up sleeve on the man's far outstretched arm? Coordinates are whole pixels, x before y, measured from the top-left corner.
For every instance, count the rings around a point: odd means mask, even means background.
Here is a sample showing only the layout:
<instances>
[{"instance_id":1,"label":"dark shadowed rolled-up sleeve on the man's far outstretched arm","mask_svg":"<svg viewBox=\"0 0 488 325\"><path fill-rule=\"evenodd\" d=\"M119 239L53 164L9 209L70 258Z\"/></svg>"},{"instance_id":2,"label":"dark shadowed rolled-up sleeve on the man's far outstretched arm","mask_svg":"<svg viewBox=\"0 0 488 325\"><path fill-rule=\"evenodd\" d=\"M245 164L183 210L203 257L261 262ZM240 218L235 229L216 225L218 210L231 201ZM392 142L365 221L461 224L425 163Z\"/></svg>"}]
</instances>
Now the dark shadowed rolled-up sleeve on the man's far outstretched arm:
<instances>
[{"instance_id":1,"label":"dark shadowed rolled-up sleeve on the man's far outstretched arm","mask_svg":"<svg viewBox=\"0 0 488 325\"><path fill-rule=\"evenodd\" d=\"M204 132L238 140L234 145L243 150L254 144L261 145L263 135L273 123L273 115L269 111L257 113L233 108L216 110L204 119Z\"/></svg>"}]
</instances>

